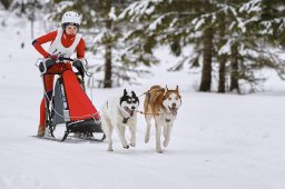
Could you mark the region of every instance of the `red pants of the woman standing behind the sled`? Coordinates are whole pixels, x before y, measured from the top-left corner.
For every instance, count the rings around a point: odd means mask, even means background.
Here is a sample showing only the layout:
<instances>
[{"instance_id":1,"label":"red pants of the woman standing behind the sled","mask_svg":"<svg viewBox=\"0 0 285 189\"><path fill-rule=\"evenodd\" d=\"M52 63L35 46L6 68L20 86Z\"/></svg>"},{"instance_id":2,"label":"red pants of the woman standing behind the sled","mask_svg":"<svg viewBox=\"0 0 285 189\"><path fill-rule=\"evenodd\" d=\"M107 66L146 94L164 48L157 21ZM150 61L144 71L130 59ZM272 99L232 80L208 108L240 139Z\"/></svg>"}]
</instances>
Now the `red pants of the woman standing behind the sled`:
<instances>
[{"instance_id":1,"label":"red pants of the woman standing behind the sled","mask_svg":"<svg viewBox=\"0 0 285 189\"><path fill-rule=\"evenodd\" d=\"M72 70L71 64L70 63L55 64L48 70L48 73L62 73L65 70ZM48 74L48 73L43 76L45 87L46 87L45 89L46 89L47 93L52 93L55 74ZM40 127L46 128L46 100L45 100L45 97L42 98L41 103L40 103Z\"/></svg>"}]
</instances>

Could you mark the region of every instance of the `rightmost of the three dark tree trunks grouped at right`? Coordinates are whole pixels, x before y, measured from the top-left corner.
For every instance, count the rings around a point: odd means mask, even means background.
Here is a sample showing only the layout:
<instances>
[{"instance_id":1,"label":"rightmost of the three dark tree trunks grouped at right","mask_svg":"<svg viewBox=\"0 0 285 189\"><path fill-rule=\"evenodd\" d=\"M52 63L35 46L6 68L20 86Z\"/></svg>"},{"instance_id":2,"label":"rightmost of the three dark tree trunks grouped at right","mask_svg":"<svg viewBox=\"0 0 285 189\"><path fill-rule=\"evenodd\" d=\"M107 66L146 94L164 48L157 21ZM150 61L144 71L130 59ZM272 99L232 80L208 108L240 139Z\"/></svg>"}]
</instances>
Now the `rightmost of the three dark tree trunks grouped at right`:
<instances>
[{"instance_id":1,"label":"rightmost of the three dark tree trunks grouped at right","mask_svg":"<svg viewBox=\"0 0 285 189\"><path fill-rule=\"evenodd\" d=\"M237 51L237 44L234 43L232 46L232 54L230 54L230 91L236 90L239 92L239 86L238 86L238 51Z\"/></svg>"}]
</instances>

